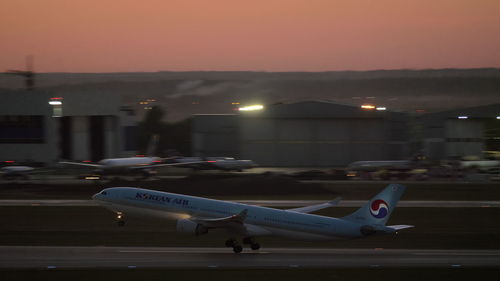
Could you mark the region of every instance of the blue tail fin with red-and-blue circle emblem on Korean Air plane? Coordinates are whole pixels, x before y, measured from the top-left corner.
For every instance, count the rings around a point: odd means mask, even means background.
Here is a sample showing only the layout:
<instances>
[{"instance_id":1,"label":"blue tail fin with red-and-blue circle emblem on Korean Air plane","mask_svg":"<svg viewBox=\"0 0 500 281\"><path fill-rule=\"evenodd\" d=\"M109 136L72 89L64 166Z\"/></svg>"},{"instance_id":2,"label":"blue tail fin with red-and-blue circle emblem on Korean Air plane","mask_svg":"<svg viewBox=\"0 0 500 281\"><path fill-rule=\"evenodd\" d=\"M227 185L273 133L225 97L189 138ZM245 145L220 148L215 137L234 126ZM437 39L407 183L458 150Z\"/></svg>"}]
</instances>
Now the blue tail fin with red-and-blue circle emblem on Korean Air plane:
<instances>
[{"instance_id":1,"label":"blue tail fin with red-and-blue circle emblem on Korean Air plane","mask_svg":"<svg viewBox=\"0 0 500 281\"><path fill-rule=\"evenodd\" d=\"M385 225L405 190L403 185L390 184L363 207L343 219L366 225Z\"/></svg>"}]
</instances>

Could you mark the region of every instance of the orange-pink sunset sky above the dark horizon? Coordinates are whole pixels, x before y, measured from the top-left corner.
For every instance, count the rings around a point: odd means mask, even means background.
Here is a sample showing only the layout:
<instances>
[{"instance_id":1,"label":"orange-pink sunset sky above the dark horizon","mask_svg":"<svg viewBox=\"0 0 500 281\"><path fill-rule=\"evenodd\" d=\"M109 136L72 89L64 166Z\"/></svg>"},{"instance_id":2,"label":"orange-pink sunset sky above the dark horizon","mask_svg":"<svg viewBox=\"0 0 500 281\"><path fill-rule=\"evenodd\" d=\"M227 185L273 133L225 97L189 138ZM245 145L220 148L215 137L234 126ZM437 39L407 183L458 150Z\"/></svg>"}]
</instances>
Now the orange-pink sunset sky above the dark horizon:
<instances>
[{"instance_id":1,"label":"orange-pink sunset sky above the dark horizon","mask_svg":"<svg viewBox=\"0 0 500 281\"><path fill-rule=\"evenodd\" d=\"M0 71L500 67L499 0L0 0Z\"/></svg>"}]
</instances>

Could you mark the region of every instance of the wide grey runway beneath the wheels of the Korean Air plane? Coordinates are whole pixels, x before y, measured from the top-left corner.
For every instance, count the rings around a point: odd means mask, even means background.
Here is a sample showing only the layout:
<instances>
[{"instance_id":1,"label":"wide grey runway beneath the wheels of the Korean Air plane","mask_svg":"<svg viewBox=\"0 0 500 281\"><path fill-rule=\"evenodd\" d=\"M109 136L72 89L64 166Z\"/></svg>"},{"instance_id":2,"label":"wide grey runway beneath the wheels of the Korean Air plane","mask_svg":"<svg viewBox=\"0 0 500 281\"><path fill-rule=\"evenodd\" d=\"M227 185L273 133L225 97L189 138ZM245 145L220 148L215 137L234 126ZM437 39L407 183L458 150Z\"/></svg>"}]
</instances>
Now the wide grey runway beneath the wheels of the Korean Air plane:
<instances>
[{"instance_id":1,"label":"wide grey runway beneath the wheels of the Korean Air plane","mask_svg":"<svg viewBox=\"0 0 500 281\"><path fill-rule=\"evenodd\" d=\"M500 250L0 246L0 268L499 267Z\"/></svg>"}]
</instances>

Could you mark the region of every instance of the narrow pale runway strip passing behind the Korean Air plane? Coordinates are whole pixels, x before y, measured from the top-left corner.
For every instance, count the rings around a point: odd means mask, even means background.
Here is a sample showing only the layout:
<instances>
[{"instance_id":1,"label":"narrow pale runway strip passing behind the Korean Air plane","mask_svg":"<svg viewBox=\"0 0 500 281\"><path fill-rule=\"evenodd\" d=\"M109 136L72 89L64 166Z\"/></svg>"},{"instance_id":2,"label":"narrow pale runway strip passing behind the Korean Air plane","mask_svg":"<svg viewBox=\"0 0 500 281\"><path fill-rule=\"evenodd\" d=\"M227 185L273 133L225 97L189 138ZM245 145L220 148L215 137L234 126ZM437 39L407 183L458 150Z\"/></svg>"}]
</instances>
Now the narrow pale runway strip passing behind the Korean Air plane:
<instances>
[{"instance_id":1,"label":"narrow pale runway strip passing behind the Korean Air plane","mask_svg":"<svg viewBox=\"0 0 500 281\"><path fill-rule=\"evenodd\" d=\"M249 205L266 207L302 207L326 202L326 200L228 200ZM365 200L340 201L338 207L361 207ZM0 200L0 206L98 206L93 200ZM426 208L500 208L500 201L412 201L398 202L398 207L426 207Z\"/></svg>"}]
</instances>

